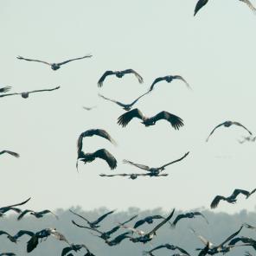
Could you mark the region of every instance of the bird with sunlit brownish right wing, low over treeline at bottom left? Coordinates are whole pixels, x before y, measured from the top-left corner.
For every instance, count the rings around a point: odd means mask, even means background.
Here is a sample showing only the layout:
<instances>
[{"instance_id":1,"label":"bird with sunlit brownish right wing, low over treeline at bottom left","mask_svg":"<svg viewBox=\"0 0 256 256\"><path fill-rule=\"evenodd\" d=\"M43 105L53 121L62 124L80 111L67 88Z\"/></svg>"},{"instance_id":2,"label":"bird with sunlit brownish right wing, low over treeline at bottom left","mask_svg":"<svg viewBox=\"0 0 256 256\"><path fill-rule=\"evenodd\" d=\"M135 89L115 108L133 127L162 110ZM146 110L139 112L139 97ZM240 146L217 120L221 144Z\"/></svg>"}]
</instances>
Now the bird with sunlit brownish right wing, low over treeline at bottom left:
<instances>
[{"instance_id":1,"label":"bird with sunlit brownish right wing, low over treeline at bottom left","mask_svg":"<svg viewBox=\"0 0 256 256\"><path fill-rule=\"evenodd\" d=\"M32 235L27 243L27 253L30 253L35 249L35 247L38 245L39 239L47 239L50 235L53 236L56 240L65 241L68 245L70 245L65 236L56 231L56 228L44 228Z\"/></svg>"}]
</instances>

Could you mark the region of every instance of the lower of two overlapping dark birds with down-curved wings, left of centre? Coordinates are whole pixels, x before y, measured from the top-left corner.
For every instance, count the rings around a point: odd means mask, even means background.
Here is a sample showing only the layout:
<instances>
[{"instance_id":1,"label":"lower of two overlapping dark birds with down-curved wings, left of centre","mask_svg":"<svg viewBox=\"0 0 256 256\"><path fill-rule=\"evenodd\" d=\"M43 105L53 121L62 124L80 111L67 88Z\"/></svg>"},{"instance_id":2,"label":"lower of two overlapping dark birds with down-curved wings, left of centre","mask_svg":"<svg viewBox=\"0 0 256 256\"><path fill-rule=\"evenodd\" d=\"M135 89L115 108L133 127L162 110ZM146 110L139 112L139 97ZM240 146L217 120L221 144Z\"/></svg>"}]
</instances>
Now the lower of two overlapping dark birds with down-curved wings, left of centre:
<instances>
[{"instance_id":1,"label":"lower of two overlapping dark birds with down-curved wings, left of centre","mask_svg":"<svg viewBox=\"0 0 256 256\"><path fill-rule=\"evenodd\" d=\"M117 163L118 163L117 159L113 157L108 150L100 149L100 150L96 150L93 153L86 153L86 154L83 151L81 151L80 156L77 159L77 163L76 163L77 170L78 170L78 160L84 163L90 163L90 162L93 162L96 158L101 158L105 160L111 170L114 170L115 168L117 168Z\"/></svg>"}]
</instances>

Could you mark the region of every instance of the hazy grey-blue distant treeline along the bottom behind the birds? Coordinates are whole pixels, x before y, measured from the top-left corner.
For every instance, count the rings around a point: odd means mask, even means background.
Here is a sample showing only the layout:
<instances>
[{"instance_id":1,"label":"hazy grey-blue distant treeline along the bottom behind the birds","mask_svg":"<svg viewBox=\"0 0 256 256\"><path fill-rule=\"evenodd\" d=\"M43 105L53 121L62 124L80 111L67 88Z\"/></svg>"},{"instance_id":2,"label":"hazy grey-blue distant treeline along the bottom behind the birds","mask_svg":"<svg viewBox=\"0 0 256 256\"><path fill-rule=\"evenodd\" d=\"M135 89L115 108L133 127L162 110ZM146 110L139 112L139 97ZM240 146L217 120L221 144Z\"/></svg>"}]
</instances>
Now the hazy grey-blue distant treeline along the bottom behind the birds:
<instances>
[{"instance_id":1,"label":"hazy grey-blue distant treeline along the bottom behind the birds","mask_svg":"<svg viewBox=\"0 0 256 256\"><path fill-rule=\"evenodd\" d=\"M109 209L99 208L93 211L84 211L83 209L71 208L74 212L85 216L88 220L96 220L101 214L105 214ZM170 211L172 208L170 208ZM197 209L200 210L200 209ZM93 231L86 230L85 228L75 227L71 222L72 220L76 221L80 225L86 225L86 221L81 220L79 217L75 216L69 210L57 209L55 212L59 216L59 221L54 218L52 215L45 215L42 219L35 219L34 216L28 214L24 216L21 221L17 221L17 214L11 214L4 216L0 219L0 230L6 231L12 235L16 234L17 231L21 229L30 230L37 232L46 227L56 227L57 231L64 234L70 242L77 244L85 244L88 246L90 251L96 256L133 256L133 255L143 255L144 250L150 250L152 246L158 246L163 243L170 243L176 246L182 246L190 255L197 255L198 251L195 251L195 248L202 248L202 242L192 234L189 230L189 227L195 229L198 234L202 234L205 238L212 241L214 245L218 245L222 240L225 240L229 234L233 234L236 230L239 229L240 225L244 222L256 226L256 213L247 212L246 210L240 211L238 214L225 214L217 213L215 214L212 211L203 210L202 214L206 216L209 224L202 219L202 217L196 217L195 219L183 219L179 221L176 225L176 228L170 228L170 224L167 223L163 228L160 228L157 231L157 236L151 241L151 243L143 244L133 244L129 240L124 240L118 246L107 246L104 240L101 240L99 237L93 235ZM99 227L99 230L106 231L111 229L113 226L117 225L119 221L125 221L131 218L132 215L138 214L137 219L131 221L127 224L133 226L135 221L138 221L140 218L144 218L147 215L152 214L161 214L166 216L170 212L163 212L161 208L154 210L140 210L139 208L129 208L125 212L116 212L110 214L102 221ZM181 211L176 211L174 217L171 221L174 220L177 214L181 214ZM150 231L159 221L156 220L153 224L144 224L141 226L141 229L145 232ZM116 236L125 232L123 229L118 230ZM240 232L240 235L245 235L252 237L256 240L256 231L243 228ZM59 240L54 240L54 238L49 237L48 240L42 241L35 248L32 253L26 252L26 245L29 237L24 235L19 241L15 244L10 242L7 239L6 235L0 236L0 253L12 252L16 255L27 255L31 256L57 256L61 255L62 248L67 246L64 242ZM253 248L250 247L239 247L235 248L229 253L232 256L242 256L245 251L249 251L253 255L256 255L256 252ZM74 253L74 255L84 255L86 252L81 250L79 253ZM176 252L159 250L154 252L155 255L172 255Z\"/></svg>"}]
</instances>

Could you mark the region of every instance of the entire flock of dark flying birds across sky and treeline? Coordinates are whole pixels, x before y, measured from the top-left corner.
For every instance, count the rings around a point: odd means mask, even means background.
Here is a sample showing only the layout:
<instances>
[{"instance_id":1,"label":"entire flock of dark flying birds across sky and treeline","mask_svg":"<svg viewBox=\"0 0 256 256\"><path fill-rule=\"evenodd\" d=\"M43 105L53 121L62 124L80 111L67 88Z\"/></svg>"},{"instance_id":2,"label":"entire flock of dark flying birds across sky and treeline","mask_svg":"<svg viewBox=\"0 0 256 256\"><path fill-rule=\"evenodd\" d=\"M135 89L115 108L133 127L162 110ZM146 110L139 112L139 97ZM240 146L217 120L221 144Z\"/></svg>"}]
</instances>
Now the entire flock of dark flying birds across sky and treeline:
<instances>
[{"instance_id":1,"label":"entire flock of dark flying birds across sky and treeline","mask_svg":"<svg viewBox=\"0 0 256 256\"><path fill-rule=\"evenodd\" d=\"M251 2L249 2L249 0L240 0L240 1L243 3L246 3L247 6L251 10L256 11L256 9L253 7L253 4ZM199 0L195 6L195 15L207 3L208 3L208 0ZM62 65L67 64L70 61L77 61L77 60L82 60L82 59L91 58L91 57L92 57L91 54L87 54L87 55L79 57L79 58L74 58L74 59L62 61L59 63L49 63L47 61L39 61L39 60L34 60L34 59L23 58L22 56L18 56L17 59L22 60L22 61L35 61L35 62L43 63L43 64L50 66L54 71L56 71L59 68L61 68ZM138 79L139 83L144 82L143 77L133 69L125 69L122 71L107 70L99 78L98 86L99 86L99 88L102 87L103 83L106 82L106 78L107 77L109 78L109 76L115 75L117 78L123 78L126 74L133 74ZM159 121L159 120L165 120L165 121L168 121L170 123L170 125L175 130L179 130L184 125L183 120L182 120L182 118L176 116L173 113L162 111L162 112L158 112L155 116L147 117L138 108L132 109L132 107L138 102L138 100L145 97L148 93L151 93L154 90L154 88L156 88L156 85L159 82L166 81L167 83L170 83L173 80L181 80L189 89L191 89L191 86L189 85L187 80L182 78L181 75L166 75L163 77L156 78L152 82L148 91L143 93L142 95L138 96L138 98L134 99L130 104L125 104L125 103L122 103L115 99L106 98L102 94L99 94L99 97L102 99L111 101L111 102L115 103L116 105L122 107L125 110L125 113L122 114L121 116L119 116L118 121L117 121L118 125L121 125L122 127L125 127L126 125L128 125L133 118L139 118L141 120L141 123L143 125L145 125L146 127L150 126L150 125L156 125L157 121ZM51 91L60 89L60 86L50 88L50 89L35 90L35 91L23 92L23 93L9 93L10 89L11 89L10 86L1 87L0 88L0 93L1 93L0 97L3 98L6 96L21 95L22 98L27 99L29 97L29 93L51 92ZM84 108L87 111L91 111L91 110L93 110L94 107L95 106L84 107ZM216 129L218 129L221 126L230 127L231 125L240 126L241 128L245 129L249 133L249 136L244 137L244 140L240 141L240 143L245 143L246 141L252 141L252 142L255 141L256 137L253 137L253 133L251 131L249 131L246 128L246 126L241 125L239 122L228 120L228 121L221 123L220 125L216 125L214 127L213 131L210 132L208 138L206 139L206 142L208 142L208 139L213 135L213 133ZM99 149L94 152L86 152L86 153L83 151L83 139L86 137L93 137L93 136L99 136L101 138L105 138L110 143L116 145L115 140L105 130L91 129L91 130L83 131L80 134L80 136L78 138L78 142L77 142L77 161L76 161L77 170L79 167L79 161L84 162L84 163L90 163L90 162L94 161L96 158L101 158L104 161L106 161L106 163L108 164L108 166L111 170L116 169L118 161L108 150ZM2 151L0 151L0 155L2 155L2 154L10 154L10 156L13 156L13 157L20 157L18 153L11 151L11 150L2 150ZM170 164L182 161L188 155L189 155L189 152L185 153L182 157L180 157L176 160L173 160L169 163L163 164L160 167L150 167L150 166L147 166L147 165L144 165L141 163L133 163L130 160L124 159L123 163L135 166L140 170L144 170L145 172L144 173L129 173L129 174L128 173L111 174L111 175L100 174L100 176L108 176L108 177L128 176L129 178L131 178L131 180L137 179L138 176L150 176L150 177L168 176L167 173L162 173L163 170L165 170L165 168L167 166L169 166ZM246 191L244 189L234 189L234 192L232 193L232 195L229 195L227 197L223 196L223 195L216 195L210 204L210 208L213 208L213 209L217 208L221 201L226 201L228 203L235 203L235 202L237 202L237 196L240 194L245 195L246 199L247 199L251 195L253 195L253 193L255 191L256 191L256 189L253 189L252 191ZM35 212L32 209L22 210L21 208L17 208L19 206L26 204L27 202L29 202L29 200L30 200L30 198L24 202L12 204L12 205L0 208L0 217L3 217L9 211L12 211L12 212L15 212L16 214L18 214L17 221L21 221L22 218L26 214L33 215L33 216L35 216L35 218L43 218L43 216L45 214L53 214L54 217L56 218L56 220L59 219L59 217L49 209L44 209L42 211ZM131 226L127 225L127 223L138 218L138 215L134 215L129 220L118 222L118 225L112 227L112 229L103 231L101 228L99 229L99 227L101 227L100 222L105 220L108 215L113 214L114 210L99 216L99 218L95 221L89 221L86 219L85 216L77 214L73 210L70 210L70 213L74 214L74 216L80 218L81 221L85 221L84 223L79 224L79 223L77 223L77 221L72 220L72 223L74 224L75 227L85 228L86 230L93 232L93 235L98 236L99 239L103 240L108 246L118 246L123 240L130 240L132 243L143 243L143 244L149 243L157 235L158 229L163 227L163 225L165 225L166 223L170 223L170 227L175 228L178 222L180 222L180 221L182 221L182 219L186 219L186 218L193 219L197 216L201 216L202 219L204 221L206 221L206 223L208 224L207 217L204 214L202 214L201 212L189 212L189 213L185 213L185 214L178 214L178 215L176 215L176 218L173 221L170 221L175 214L175 209L173 209L168 216L150 215L150 216L146 216L143 219L137 220ZM157 220L161 220L161 221L158 222L154 227L152 227L149 232L144 232L143 230L138 228L138 227L143 226L144 224L151 225L151 224L155 223L155 221L157 221ZM229 235L227 237L227 239L223 240L221 242L221 244L217 245L217 246L214 246L213 243L211 243L209 240L205 239L201 234L197 234L194 229L190 228L191 232L193 234L195 234L199 238L199 240L202 241L202 243L204 245L202 248L196 248L195 250L199 251L198 255L200 255L200 256L204 256L207 254L214 255L216 253L228 253L228 252L230 252L230 250L232 248L234 248L236 246L252 246L253 249L256 250L256 240L253 240L252 238L245 237L245 236L238 236L238 234L240 234L240 231L242 230L243 227L256 230L256 227L253 227L250 224L244 223L237 231L235 231L233 234ZM123 229L125 232L113 237L113 234L118 232L118 230L120 230L120 229ZM88 247L86 245L74 244L72 242L69 242L64 234L61 234L55 228L51 228L51 227L44 228L37 232L32 232L29 230L19 230L16 234L9 234L8 232L1 230L0 235L6 235L7 239L9 239L10 242L13 242L13 243L18 242L19 241L18 239L21 238L23 235L29 236L29 240L27 242L27 252L28 253L34 251L35 248L42 241L45 241L45 240L47 240L47 238L49 236L52 236L56 240L65 242L67 245L62 249L61 256L64 256L64 255L73 256L74 255L73 253L79 252L81 249L84 249L86 251L85 256L95 256L93 253L90 252L90 250L88 249ZM240 242L240 244L237 244L238 242ZM169 243L153 247L149 251L144 251L143 254L144 255L148 254L148 255L153 256L153 255L155 255L153 253L155 253L157 250L163 249L163 248L165 248L167 250L171 250L171 251L177 250L179 253L173 254L175 256L190 256L190 254L182 247L176 246L176 245L171 245ZM16 255L16 254L15 253L0 253L0 256L1 255L12 256L12 255ZM246 252L245 255L251 256L251 253Z\"/></svg>"}]
</instances>

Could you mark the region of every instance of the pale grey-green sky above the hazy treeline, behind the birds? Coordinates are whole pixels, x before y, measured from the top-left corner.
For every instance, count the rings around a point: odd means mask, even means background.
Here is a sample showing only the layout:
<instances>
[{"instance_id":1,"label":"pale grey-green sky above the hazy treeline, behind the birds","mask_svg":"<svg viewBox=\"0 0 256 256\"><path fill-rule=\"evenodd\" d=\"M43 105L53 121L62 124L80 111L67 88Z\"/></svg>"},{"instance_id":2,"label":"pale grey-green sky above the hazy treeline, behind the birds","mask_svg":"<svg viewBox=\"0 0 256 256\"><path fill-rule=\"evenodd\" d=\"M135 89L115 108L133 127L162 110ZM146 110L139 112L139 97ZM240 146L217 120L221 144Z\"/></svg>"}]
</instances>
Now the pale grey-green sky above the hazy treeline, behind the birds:
<instances>
[{"instance_id":1,"label":"pale grey-green sky above the hazy treeline, behind the birds","mask_svg":"<svg viewBox=\"0 0 256 256\"><path fill-rule=\"evenodd\" d=\"M256 4L255 0L252 0ZM1 86L22 92L61 86L49 93L0 99L2 109L0 150L21 157L0 157L1 205L31 196L27 207L89 210L106 206L124 210L208 208L215 195L231 195L235 188L251 190L255 184L255 144L239 144L246 136L240 127L221 127L206 143L215 125L241 122L256 131L255 45L256 16L240 1L215 0L193 16L191 0L2 0ZM57 71L16 56L70 62ZM133 68L144 77L108 77L106 70ZM160 111L184 121L180 131L168 122L145 127L138 119L126 128L117 125L125 111L100 99L131 102L146 92L158 76L180 74L182 81L159 83L135 107L151 116ZM91 112L82 106L97 106ZM76 141L92 128L106 129L118 142L85 138L84 151L106 148L117 158L110 170L100 159L80 163L76 172ZM190 151L180 163L169 166L167 177L130 180L104 178L100 173L142 172L123 159L158 167ZM255 197L239 197L236 205L221 202L216 211L254 210Z\"/></svg>"}]
</instances>

